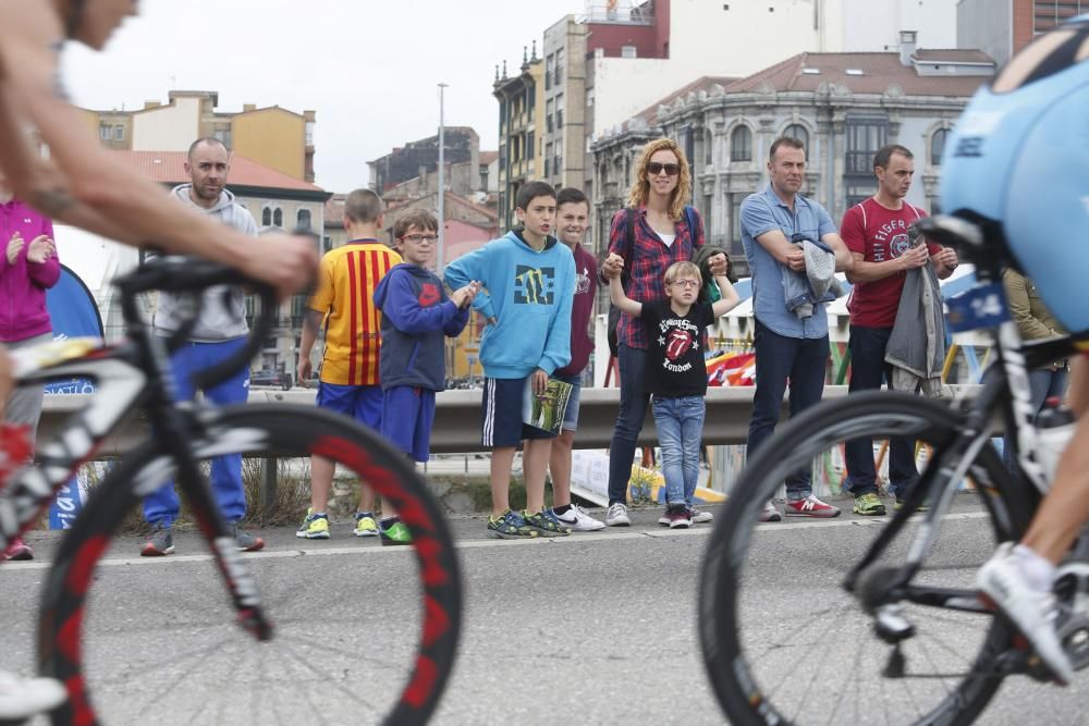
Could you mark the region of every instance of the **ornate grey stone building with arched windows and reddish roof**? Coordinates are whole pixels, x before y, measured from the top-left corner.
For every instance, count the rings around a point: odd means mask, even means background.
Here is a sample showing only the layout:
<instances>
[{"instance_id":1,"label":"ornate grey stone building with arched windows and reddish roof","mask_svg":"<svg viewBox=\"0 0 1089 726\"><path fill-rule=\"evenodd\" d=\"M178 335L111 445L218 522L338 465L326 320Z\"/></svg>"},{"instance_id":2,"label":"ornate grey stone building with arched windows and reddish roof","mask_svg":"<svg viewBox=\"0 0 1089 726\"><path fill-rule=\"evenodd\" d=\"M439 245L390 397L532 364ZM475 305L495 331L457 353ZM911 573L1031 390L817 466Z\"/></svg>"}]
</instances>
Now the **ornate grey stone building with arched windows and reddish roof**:
<instances>
[{"instance_id":1,"label":"ornate grey stone building with arched windows and reddish roof","mask_svg":"<svg viewBox=\"0 0 1089 726\"><path fill-rule=\"evenodd\" d=\"M700 79L595 143L598 234L608 235L609 220L626 202L643 145L659 136L685 149L692 204L708 241L738 263L745 259L741 202L767 184L768 155L779 136L806 145L803 194L836 222L877 192L873 153L892 143L915 155L908 201L937 211L945 139L994 70L979 51L916 50L905 37L900 53L799 53L738 81Z\"/></svg>"}]
</instances>

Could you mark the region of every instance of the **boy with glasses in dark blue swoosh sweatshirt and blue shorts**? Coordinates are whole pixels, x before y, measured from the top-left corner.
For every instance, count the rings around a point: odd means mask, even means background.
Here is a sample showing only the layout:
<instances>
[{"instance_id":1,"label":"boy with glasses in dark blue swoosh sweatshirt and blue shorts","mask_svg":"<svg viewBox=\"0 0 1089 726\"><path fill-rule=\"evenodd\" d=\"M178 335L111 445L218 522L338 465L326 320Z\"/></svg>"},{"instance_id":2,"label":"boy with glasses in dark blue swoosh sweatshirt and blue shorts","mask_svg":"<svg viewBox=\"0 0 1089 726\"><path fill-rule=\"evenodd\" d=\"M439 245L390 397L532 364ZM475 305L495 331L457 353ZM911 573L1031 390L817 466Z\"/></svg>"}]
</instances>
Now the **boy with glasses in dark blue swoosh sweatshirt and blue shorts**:
<instances>
[{"instance_id":1,"label":"boy with glasses in dark blue swoosh sweatshirt and blue shorts","mask_svg":"<svg viewBox=\"0 0 1089 726\"><path fill-rule=\"evenodd\" d=\"M375 290L382 312L381 433L416 462L426 462L435 422L435 394L445 387L443 335L454 337L468 322L476 281L449 297L439 276L427 269L435 254L439 222L412 209L393 225L404 262L394 266ZM382 544L409 544L408 528L397 517L383 518Z\"/></svg>"}]
</instances>

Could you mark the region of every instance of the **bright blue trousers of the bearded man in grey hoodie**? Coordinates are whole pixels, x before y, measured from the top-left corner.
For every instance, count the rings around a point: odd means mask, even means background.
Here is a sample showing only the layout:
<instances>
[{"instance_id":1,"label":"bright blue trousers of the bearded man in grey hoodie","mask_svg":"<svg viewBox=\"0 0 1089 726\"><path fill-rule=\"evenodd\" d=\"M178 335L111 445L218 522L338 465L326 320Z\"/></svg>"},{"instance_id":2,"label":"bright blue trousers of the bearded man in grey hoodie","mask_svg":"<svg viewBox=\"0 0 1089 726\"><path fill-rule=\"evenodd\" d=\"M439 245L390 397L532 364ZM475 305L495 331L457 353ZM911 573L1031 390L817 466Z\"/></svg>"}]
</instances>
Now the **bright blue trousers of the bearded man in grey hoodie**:
<instances>
[{"instance_id":1,"label":"bright blue trousers of the bearded man in grey hoodie","mask_svg":"<svg viewBox=\"0 0 1089 726\"><path fill-rule=\"evenodd\" d=\"M178 401L192 401L196 395L191 376L225 360L246 345L240 337L223 343L186 343L171 357ZM230 379L204 392L212 403L224 406L241 404L249 398L249 371L243 369ZM229 454L211 460L211 489L223 518L237 521L246 514L246 491L242 485L242 455ZM180 504L174 482L168 481L158 491L144 497L144 519L152 525L170 527L178 519Z\"/></svg>"}]
</instances>

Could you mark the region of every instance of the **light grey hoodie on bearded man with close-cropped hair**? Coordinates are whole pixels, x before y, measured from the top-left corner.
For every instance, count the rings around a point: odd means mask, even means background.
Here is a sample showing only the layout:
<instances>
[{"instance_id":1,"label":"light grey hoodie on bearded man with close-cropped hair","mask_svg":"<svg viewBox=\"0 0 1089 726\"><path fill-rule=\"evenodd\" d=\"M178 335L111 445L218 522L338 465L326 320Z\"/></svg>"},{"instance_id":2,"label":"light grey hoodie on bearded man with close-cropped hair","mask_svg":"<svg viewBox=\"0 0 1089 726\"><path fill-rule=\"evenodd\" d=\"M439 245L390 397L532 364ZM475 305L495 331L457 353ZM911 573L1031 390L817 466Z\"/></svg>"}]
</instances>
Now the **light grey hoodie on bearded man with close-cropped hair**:
<instances>
[{"instance_id":1,"label":"light grey hoodie on bearded man with close-cropped hair","mask_svg":"<svg viewBox=\"0 0 1089 726\"><path fill-rule=\"evenodd\" d=\"M217 220L232 226L243 234L252 237L257 236L257 222L254 216L235 202L234 195L223 189L219 195L219 201L211 209L205 209L193 204L189 198L192 184L175 186L171 194L180 202L189 208L215 217ZM154 257L149 254L148 258ZM155 316L155 329L159 334L171 333L181 324L178 315L179 298L172 293L159 293L159 309ZM246 324L246 303L245 295L238 286L217 285L209 287L204 293L200 305L200 317L197 324L189 333L191 341L195 343L221 343L243 337L249 333L249 325Z\"/></svg>"}]
</instances>

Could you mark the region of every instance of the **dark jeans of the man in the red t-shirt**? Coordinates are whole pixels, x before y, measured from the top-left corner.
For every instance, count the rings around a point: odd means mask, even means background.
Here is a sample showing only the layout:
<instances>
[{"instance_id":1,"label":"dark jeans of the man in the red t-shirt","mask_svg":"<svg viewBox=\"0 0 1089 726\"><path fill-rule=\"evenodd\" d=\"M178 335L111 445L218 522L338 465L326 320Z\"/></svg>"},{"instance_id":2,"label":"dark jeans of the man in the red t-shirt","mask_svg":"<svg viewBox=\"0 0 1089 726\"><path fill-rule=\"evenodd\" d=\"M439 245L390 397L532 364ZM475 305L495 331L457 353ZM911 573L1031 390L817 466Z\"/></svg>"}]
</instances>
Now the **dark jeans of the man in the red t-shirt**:
<instances>
[{"instance_id":1,"label":"dark jeans of the man in the red t-shirt","mask_svg":"<svg viewBox=\"0 0 1089 726\"><path fill-rule=\"evenodd\" d=\"M892 380L892 366L884 360L892 328L851 328L851 384L847 390L872 391ZM853 439L846 450L847 481L844 489L855 496L878 491L873 464L873 440ZM915 440L892 436L889 441L889 483L892 493L904 499L919 478L915 468Z\"/></svg>"}]
</instances>

